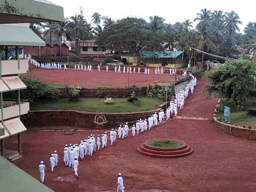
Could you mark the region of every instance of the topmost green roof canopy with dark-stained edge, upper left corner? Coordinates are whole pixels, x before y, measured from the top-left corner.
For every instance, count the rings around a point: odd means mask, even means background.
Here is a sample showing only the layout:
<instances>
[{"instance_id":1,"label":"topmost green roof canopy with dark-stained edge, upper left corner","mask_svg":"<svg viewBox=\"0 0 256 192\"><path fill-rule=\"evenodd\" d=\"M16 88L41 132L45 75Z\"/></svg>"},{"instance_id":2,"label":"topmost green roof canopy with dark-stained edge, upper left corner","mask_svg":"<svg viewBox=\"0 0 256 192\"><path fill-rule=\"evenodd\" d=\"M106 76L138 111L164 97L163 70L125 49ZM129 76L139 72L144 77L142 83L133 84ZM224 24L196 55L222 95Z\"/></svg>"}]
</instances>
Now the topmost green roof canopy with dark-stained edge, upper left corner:
<instances>
[{"instance_id":1,"label":"topmost green roof canopy with dark-stained edge, upper left corner","mask_svg":"<svg viewBox=\"0 0 256 192\"><path fill-rule=\"evenodd\" d=\"M0 23L64 21L63 8L46 0L0 0Z\"/></svg>"}]
</instances>

